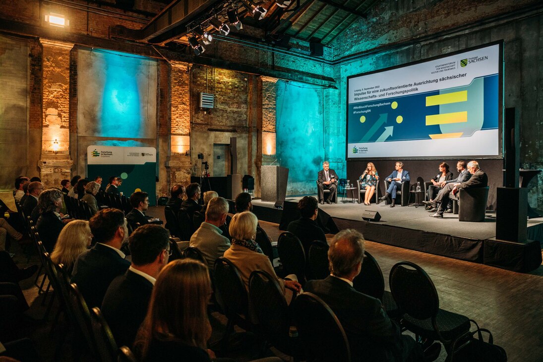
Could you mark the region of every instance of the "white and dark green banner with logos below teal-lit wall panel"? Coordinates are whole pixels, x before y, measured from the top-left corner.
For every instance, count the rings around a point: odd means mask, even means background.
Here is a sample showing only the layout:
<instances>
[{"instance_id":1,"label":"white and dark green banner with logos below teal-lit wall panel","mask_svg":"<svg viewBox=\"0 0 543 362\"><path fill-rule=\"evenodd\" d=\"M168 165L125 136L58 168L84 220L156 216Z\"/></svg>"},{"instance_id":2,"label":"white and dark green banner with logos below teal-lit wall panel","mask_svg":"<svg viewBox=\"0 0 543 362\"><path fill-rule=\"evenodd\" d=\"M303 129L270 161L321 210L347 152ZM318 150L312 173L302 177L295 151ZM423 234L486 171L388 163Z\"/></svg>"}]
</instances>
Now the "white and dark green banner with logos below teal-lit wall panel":
<instances>
[{"instance_id":1,"label":"white and dark green banner with logos below teal-lit wall panel","mask_svg":"<svg viewBox=\"0 0 543 362\"><path fill-rule=\"evenodd\" d=\"M87 178L110 176L122 179L119 191L128 198L135 191L149 194L149 204L156 205L156 149L153 147L112 147L90 145L87 148Z\"/></svg>"}]
</instances>

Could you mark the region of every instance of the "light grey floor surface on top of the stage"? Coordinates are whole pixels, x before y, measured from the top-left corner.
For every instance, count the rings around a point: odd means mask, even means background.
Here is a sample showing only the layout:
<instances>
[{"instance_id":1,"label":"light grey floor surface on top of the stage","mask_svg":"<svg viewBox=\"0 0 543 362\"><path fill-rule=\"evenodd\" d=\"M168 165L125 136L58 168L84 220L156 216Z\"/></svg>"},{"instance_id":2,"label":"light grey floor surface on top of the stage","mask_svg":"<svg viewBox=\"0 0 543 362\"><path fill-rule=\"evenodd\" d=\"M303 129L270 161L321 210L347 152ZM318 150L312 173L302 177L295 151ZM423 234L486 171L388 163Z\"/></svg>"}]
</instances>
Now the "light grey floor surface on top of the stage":
<instances>
[{"instance_id":1,"label":"light grey floor surface on top of the stage","mask_svg":"<svg viewBox=\"0 0 543 362\"><path fill-rule=\"evenodd\" d=\"M287 197L285 201L298 202L300 199L301 196ZM265 202L260 199L252 200L252 204L255 206L274 207L273 202ZM452 213L445 213L443 219L434 219L430 217L431 213L427 212L424 206L396 205L395 207L390 207L389 205L385 205L384 201L379 205L371 204L370 206L365 206L357 202L354 204L343 204L339 200L338 204L319 204L319 208L326 211L333 218L362 220L362 212L366 210L378 211L381 215L381 220L377 224L425 230L479 240L496 237L496 212L487 212L487 217L482 223L470 223L468 221L458 221L458 215ZM536 229L543 229L543 225L540 224L543 224L543 218L528 220L528 236L530 239L542 241L540 231L536 231Z\"/></svg>"}]
</instances>

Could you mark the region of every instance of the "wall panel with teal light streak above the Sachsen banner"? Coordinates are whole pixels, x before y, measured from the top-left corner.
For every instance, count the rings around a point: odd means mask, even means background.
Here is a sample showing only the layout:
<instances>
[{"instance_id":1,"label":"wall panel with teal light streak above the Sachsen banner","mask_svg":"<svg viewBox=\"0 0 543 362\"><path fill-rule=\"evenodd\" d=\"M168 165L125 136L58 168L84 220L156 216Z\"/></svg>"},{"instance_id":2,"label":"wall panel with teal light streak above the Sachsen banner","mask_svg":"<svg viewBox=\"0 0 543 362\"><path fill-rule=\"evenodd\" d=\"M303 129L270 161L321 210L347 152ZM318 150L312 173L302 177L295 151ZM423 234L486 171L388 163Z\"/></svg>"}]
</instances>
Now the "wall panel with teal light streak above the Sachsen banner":
<instances>
[{"instance_id":1,"label":"wall panel with teal light streak above the Sachsen banner","mask_svg":"<svg viewBox=\"0 0 543 362\"><path fill-rule=\"evenodd\" d=\"M156 138L157 62L101 49L78 56L78 134Z\"/></svg>"}]
</instances>

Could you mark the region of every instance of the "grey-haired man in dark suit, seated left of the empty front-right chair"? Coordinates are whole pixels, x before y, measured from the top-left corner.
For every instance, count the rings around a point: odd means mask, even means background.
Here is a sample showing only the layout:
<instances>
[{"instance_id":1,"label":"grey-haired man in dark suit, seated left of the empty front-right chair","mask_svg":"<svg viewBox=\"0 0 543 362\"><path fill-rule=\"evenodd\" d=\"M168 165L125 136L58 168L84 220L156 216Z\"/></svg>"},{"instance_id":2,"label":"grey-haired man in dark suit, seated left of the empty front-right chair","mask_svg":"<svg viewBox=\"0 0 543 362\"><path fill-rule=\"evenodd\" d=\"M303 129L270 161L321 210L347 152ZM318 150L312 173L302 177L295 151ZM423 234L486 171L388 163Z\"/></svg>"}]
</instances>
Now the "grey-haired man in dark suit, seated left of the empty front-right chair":
<instances>
[{"instance_id":1,"label":"grey-haired man in dark suit, seated left of the empty front-right chair","mask_svg":"<svg viewBox=\"0 0 543 362\"><path fill-rule=\"evenodd\" d=\"M424 361L421 346L411 336L401 334L381 301L353 288L352 280L360 273L363 256L362 234L340 231L328 252L331 275L307 281L304 290L318 295L336 314L349 340L352 360ZM440 350L440 345L436 348Z\"/></svg>"}]
</instances>

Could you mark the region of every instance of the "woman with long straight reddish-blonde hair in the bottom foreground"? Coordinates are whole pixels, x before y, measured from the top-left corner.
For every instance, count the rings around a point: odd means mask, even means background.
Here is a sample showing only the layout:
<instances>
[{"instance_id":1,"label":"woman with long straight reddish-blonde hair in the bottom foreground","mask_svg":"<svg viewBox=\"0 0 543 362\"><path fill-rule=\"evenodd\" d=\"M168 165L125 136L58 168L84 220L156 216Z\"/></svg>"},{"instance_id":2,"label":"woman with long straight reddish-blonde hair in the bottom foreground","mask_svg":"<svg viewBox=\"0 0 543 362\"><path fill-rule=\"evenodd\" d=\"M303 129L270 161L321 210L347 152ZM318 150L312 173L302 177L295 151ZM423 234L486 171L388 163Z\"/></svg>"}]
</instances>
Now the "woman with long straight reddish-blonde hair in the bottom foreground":
<instances>
[{"instance_id":1,"label":"woman with long straight reddish-blonde hair in the bottom foreground","mask_svg":"<svg viewBox=\"0 0 543 362\"><path fill-rule=\"evenodd\" d=\"M207 350L211 324L207 303L211 281L207 267L193 259L165 266L156 279L149 310L134 351L140 361L211 361Z\"/></svg>"}]
</instances>

